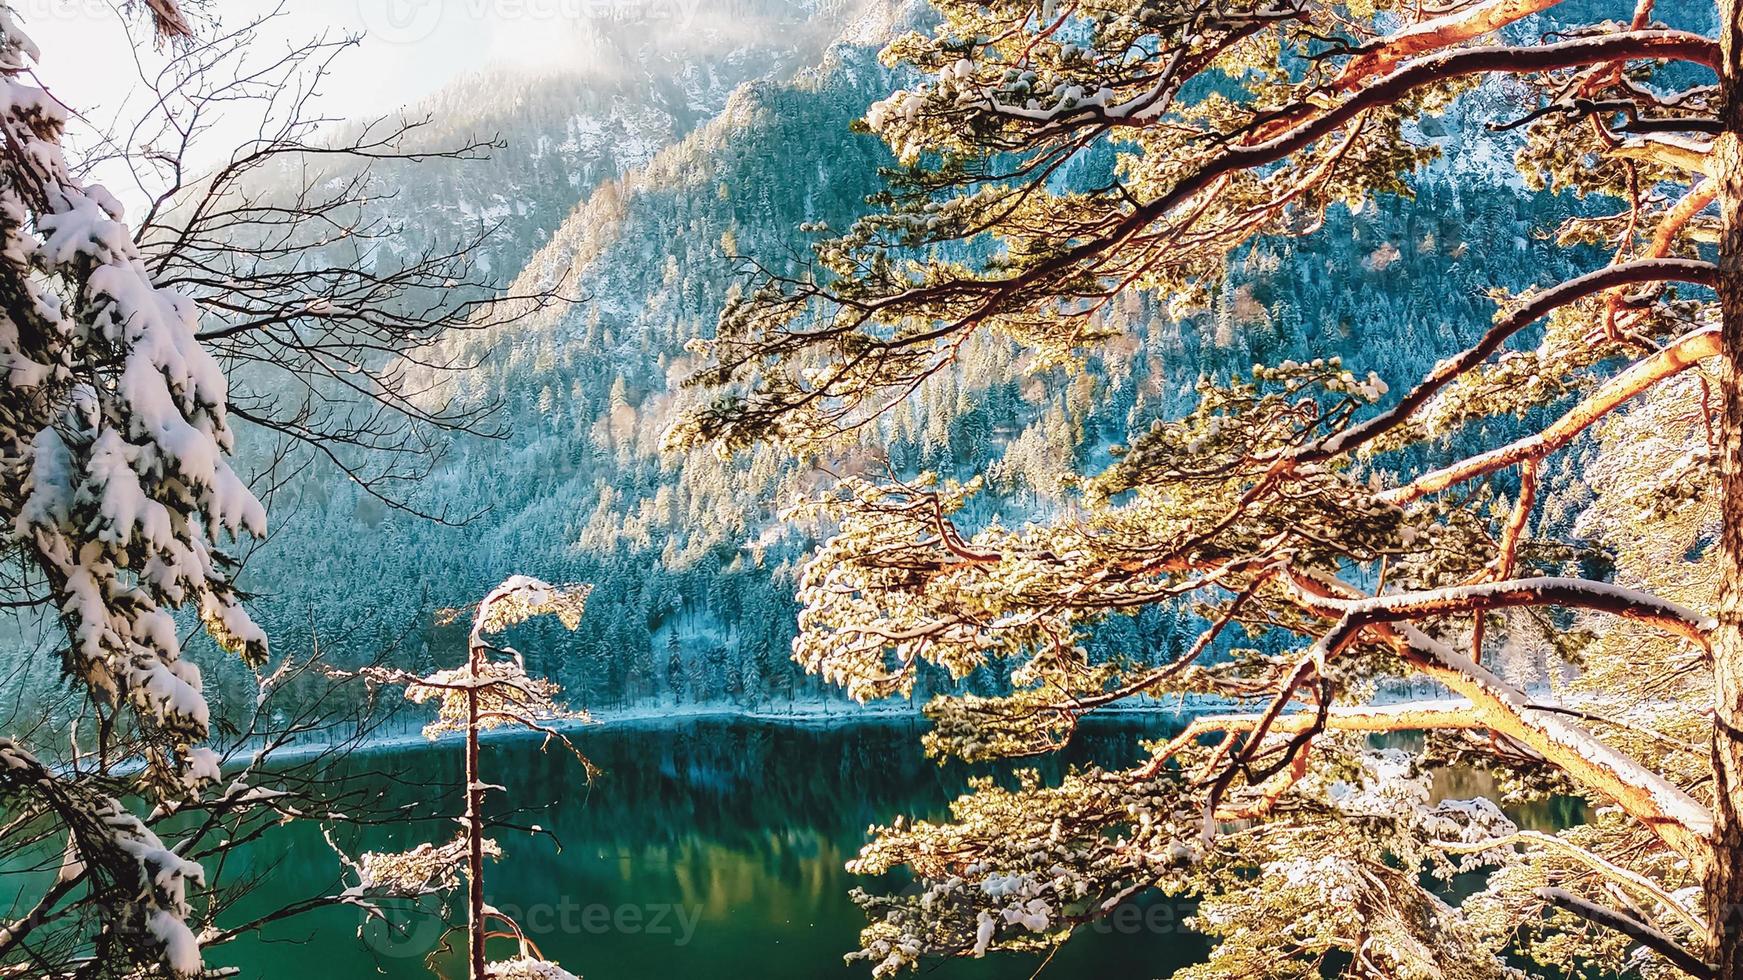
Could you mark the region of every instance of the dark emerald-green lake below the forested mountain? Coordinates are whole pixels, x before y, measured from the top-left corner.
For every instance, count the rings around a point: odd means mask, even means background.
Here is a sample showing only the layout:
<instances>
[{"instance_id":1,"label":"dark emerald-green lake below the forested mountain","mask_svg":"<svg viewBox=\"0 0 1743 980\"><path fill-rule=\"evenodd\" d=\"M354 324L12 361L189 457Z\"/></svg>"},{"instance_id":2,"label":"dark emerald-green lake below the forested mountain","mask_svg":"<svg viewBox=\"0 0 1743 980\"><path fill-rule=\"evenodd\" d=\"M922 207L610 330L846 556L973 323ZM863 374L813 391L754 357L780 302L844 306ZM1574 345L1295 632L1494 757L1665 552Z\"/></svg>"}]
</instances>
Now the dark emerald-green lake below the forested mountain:
<instances>
[{"instance_id":1,"label":"dark emerald-green lake below the forested mountain","mask_svg":"<svg viewBox=\"0 0 1743 980\"><path fill-rule=\"evenodd\" d=\"M1129 764L1140 738L1178 724L1145 717L1088 725L1061 759L1041 767L1056 774L1072 762ZM495 832L504 858L486 870L486 900L516 914L546 957L586 980L870 977L868 964L842 961L858 949L865 922L849 889L899 889L903 882L849 875L844 863L870 823L943 816L966 778L988 771L926 760L920 731L906 720L587 729L577 745L603 769L591 785L556 746L542 753L539 739L488 743L485 779L507 788L492 795L495 813L540 832ZM458 745L383 750L349 766L390 807L460 811ZM1534 825L1565 825L1577 807L1529 816ZM342 842L352 853L404 849L453 832L453 823L406 820ZM261 863L248 867L251 860ZM251 903L265 907L333 889L340 870L314 827L289 825L227 874L258 872L268 891ZM1168 977L1204 954L1204 942L1180 926L1187 914L1189 907L1161 898L1142 902L1112 922L1082 928L1042 977ZM307 980L312 966L335 978L431 977L425 959L444 921L464 921L462 909L432 902L408 910L396 928L366 924L361 931L356 909L328 909L214 949L209 966L286 980ZM457 949L437 952L432 963L444 977L464 977L464 933L448 942ZM509 950L504 942L500 954ZM1042 961L992 954L929 966L924 975L938 980L1023 978Z\"/></svg>"}]
</instances>

